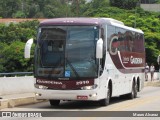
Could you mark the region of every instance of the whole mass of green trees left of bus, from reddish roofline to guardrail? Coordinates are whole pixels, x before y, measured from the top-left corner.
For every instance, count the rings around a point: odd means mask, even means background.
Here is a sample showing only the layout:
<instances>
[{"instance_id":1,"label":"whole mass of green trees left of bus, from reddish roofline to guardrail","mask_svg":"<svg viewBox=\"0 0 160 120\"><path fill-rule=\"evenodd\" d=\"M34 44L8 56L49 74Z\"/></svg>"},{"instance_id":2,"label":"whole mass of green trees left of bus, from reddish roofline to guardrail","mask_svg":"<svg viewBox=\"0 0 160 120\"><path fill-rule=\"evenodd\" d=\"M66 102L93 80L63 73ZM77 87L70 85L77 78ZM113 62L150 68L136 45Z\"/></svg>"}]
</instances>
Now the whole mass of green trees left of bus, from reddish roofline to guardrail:
<instances>
[{"instance_id":1,"label":"whole mass of green trees left of bus, from reddish roofline to guardrail","mask_svg":"<svg viewBox=\"0 0 160 120\"><path fill-rule=\"evenodd\" d=\"M33 70L33 57L24 59L24 45L28 39L35 39L38 24L38 21L11 23L8 26L0 24L0 72Z\"/></svg>"}]
</instances>

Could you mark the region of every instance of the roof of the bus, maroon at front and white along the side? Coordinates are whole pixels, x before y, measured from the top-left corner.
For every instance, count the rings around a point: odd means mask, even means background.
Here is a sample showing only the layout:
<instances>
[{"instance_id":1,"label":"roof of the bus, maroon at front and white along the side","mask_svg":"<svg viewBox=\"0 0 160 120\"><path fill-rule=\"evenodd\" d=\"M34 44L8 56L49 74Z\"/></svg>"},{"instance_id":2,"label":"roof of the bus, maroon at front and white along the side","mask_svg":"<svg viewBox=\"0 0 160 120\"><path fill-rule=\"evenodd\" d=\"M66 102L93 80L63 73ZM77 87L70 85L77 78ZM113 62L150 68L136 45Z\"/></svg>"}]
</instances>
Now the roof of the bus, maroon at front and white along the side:
<instances>
[{"instance_id":1,"label":"roof of the bus, maroon at front and white along the side","mask_svg":"<svg viewBox=\"0 0 160 120\"><path fill-rule=\"evenodd\" d=\"M40 26L52 26L52 25L98 25L102 24L113 25L130 31L142 33L142 30L138 30L132 27L125 26L123 22L112 18L53 18L47 19L40 23Z\"/></svg>"}]
</instances>

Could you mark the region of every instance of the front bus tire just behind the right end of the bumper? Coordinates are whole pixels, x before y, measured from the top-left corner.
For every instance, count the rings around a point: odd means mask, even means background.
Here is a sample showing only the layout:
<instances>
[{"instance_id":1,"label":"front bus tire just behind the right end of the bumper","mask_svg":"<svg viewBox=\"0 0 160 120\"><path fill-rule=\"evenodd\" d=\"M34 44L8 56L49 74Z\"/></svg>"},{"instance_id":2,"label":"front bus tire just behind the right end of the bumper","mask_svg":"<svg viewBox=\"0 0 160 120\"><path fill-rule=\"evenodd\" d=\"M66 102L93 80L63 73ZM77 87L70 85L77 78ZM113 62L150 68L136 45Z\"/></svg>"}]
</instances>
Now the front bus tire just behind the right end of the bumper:
<instances>
[{"instance_id":1,"label":"front bus tire just behind the right end of the bumper","mask_svg":"<svg viewBox=\"0 0 160 120\"><path fill-rule=\"evenodd\" d=\"M108 87L107 97L105 99L100 100L99 103L101 106L107 106L109 105L110 99L111 99L111 89L110 87Z\"/></svg>"}]
</instances>

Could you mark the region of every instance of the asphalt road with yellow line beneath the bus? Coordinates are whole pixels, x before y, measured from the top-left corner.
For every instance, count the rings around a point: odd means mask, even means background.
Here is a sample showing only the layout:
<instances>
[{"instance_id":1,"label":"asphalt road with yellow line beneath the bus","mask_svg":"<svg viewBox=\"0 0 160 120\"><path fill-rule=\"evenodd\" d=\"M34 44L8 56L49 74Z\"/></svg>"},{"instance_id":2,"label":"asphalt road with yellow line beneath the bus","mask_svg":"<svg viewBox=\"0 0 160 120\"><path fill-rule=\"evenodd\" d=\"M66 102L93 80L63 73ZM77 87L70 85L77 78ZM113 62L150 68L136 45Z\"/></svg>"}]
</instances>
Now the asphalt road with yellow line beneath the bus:
<instances>
[{"instance_id":1,"label":"asphalt road with yellow line beneath the bus","mask_svg":"<svg viewBox=\"0 0 160 120\"><path fill-rule=\"evenodd\" d=\"M82 102L82 101L62 101L59 106L57 107L51 107L49 102L41 102L37 104L32 105L26 105L26 106L19 106L15 108L6 108L3 109L3 111L37 111L37 112L43 112L43 111L50 111L49 114L51 116L60 116L60 117L54 117L54 120L59 119L77 119L77 120L139 120L138 117L134 117L134 115L142 115L142 113L148 113L149 114L158 114L160 116L160 87L145 87L139 94L136 99L129 100L125 98L112 98L111 103L109 106L101 107L97 102ZM62 113L63 111L63 113ZM66 112L67 111L67 112ZM76 111L76 112L72 112ZM90 112L92 111L92 112ZM102 112L103 111L103 112ZM104 112L105 111L105 112ZM120 111L120 112L117 112ZM123 111L123 112L122 112ZM131 111L131 112L128 112ZM146 111L146 112L145 112ZM121 113L122 112L122 113ZM116 117L101 117L100 115L102 113L106 114L112 114L111 116ZM98 114L98 115L96 115ZM133 116L129 115L130 117L120 117L127 116L127 114L134 114ZM79 116L79 117L76 117ZM84 117L83 117L84 115ZM109 116L110 116L109 115ZM71 117L70 116L75 116ZM88 117L87 117L88 116ZM92 117L94 116L94 117ZM105 119L106 118L106 119ZM10 118L7 118L10 119ZM15 120L21 119L21 118L12 118ZM24 119L24 118L23 118ZM33 120L50 120L53 119L52 117L42 117L42 118L25 118L27 120L33 119ZM141 120L159 120L160 117L140 117ZM5 119L6 120L6 119Z\"/></svg>"}]
</instances>

